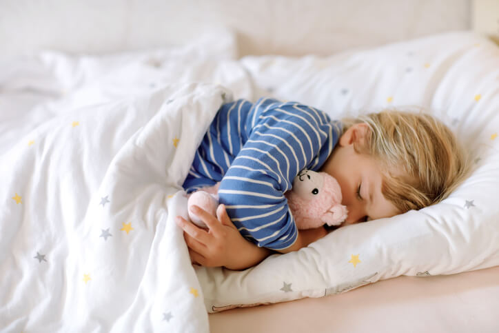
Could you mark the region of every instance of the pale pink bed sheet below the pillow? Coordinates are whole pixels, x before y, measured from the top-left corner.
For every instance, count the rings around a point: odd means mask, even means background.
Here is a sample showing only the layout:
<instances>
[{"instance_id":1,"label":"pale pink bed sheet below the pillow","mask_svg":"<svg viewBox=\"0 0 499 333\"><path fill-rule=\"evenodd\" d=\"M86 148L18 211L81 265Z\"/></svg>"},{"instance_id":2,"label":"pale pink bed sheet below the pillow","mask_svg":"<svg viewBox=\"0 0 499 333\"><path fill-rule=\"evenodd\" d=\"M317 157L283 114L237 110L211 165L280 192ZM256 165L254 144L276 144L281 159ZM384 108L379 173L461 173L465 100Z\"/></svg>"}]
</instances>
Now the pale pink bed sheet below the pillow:
<instances>
[{"instance_id":1,"label":"pale pink bed sheet below the pillow","mask_svg":"<svg viewBox=\"0 0 499 333\"><path fill-rule=\"evenodd\" d=\"M499 267L210 314L210 332L499 332Z\"/></svg>"}]
</instances>

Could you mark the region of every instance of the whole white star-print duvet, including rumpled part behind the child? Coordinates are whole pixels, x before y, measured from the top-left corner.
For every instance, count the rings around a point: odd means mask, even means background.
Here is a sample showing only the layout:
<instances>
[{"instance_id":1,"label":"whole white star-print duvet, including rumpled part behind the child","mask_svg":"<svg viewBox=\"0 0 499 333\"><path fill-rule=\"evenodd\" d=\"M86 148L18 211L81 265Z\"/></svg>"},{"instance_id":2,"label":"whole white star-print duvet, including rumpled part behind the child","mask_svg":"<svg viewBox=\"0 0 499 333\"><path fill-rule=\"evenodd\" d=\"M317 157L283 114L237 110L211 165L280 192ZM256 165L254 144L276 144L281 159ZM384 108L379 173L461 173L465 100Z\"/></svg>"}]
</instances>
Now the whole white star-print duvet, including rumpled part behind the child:
<instances>
[{"instance_id":1,"label":"whole white star-print duvet, including rumpled part behind the child","mask_svg":"<svg viewBox=\"0 0 499 333\"><path fill-rule=\"evenodd\" d=\"M0 63L0 332L209 331L172 219L233 48Z\"/></svg>"}]
</instances>

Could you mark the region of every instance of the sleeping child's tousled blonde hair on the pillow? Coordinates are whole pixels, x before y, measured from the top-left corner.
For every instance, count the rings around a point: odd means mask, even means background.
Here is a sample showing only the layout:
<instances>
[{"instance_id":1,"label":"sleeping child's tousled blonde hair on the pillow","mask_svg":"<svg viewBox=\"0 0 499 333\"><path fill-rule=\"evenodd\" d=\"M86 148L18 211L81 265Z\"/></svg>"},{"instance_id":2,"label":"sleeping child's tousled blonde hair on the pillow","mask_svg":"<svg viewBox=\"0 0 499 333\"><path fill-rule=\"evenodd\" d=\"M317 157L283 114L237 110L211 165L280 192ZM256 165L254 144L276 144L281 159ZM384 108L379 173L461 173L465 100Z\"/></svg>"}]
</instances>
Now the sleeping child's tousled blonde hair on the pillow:
<instances>
[{"instance_id":1,"label":"sleeping child's tousled blonde hair on the pillow","mask_svg":"<svg viewBox=\"0 0 499 333\"><path fill-rule=\"evenodd\" d=\"M453 132L429 114L394 110L363 114L343 119L343 130L354 123L369 126L363 147L354 148L378 159L386 170L381 192L400 213L442 201L467 176L465 150Z\"/></svg>"}]
</instances>

